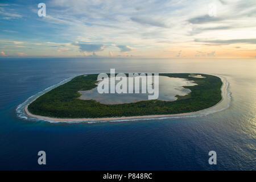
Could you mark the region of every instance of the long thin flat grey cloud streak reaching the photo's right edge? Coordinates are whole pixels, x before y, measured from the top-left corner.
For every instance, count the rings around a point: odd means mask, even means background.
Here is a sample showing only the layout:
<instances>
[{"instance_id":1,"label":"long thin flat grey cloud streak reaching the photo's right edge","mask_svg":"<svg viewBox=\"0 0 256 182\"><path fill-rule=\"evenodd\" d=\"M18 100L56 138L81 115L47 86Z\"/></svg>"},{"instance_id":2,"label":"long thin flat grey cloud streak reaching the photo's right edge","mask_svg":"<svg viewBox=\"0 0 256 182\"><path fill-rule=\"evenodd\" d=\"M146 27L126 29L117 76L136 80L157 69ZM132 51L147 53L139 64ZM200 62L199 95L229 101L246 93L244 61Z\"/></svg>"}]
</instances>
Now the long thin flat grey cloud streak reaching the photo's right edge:
<instances>
[{"instance_id":1,"label":"long thin flat grey cloud streak reaching the photo's right edge","mask_svg":"<svg viewBox=\"0 0 256 182\"><path fill-rule=\"evenodd\" d=\"M195 39L195 42L216 43L216 44L236 44L236 43L256 44L256 39L230 39L230 40Z\"/></svg>"}]
</instances>

